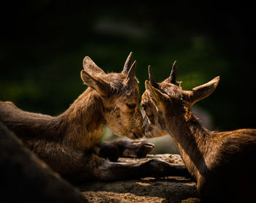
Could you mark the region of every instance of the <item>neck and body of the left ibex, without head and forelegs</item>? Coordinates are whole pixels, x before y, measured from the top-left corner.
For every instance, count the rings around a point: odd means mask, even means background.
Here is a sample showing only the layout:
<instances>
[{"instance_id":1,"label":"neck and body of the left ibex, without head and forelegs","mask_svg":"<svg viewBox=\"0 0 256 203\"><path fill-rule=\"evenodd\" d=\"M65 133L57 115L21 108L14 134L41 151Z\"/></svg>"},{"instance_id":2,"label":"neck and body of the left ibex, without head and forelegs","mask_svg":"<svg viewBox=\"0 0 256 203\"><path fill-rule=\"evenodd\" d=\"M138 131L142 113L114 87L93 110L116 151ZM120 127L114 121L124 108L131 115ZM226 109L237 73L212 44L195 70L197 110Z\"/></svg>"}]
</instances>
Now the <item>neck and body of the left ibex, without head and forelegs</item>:
<instances>
[{"instance_id":1,"label":"neck and body of the left ibex, without head and forelegs","mask_svg":"<svg viewBox=\"0 0 256 203\"><path fill-rule=\"evenodd\" d=\"M53 170L68 175L82 167L86 151L99 147L106 122L97 97L88 88L56 117L24 112L10 102L0 102L1 121Z\"/></svg>"}]
</instances>

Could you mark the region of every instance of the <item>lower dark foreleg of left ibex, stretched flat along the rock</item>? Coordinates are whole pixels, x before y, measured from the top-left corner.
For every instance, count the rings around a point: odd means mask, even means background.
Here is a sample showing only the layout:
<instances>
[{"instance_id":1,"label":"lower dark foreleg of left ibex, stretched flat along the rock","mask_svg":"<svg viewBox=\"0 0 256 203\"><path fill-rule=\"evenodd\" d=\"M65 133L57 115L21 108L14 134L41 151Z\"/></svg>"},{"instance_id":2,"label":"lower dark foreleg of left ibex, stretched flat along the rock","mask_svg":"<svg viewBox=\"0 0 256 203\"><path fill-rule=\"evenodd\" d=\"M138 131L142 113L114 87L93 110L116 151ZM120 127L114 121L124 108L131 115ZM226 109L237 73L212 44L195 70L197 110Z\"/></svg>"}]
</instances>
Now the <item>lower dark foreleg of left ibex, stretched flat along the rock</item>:
<instances>
[{"instance_id":1,"label":"lower dark foreleg of left ibex, stretched flat along the rock","mask_svg":"<svg viewBox=\"0 0 256 203\"><path fill-rule=\"evenodd\" d=\"M99 180L113 182L140 177L189 176L185 166L152 159L144 163L116 163L92 153L83 159L84 165L71 175L65 176L72 183Z\"/></svg>"}]
</instances>

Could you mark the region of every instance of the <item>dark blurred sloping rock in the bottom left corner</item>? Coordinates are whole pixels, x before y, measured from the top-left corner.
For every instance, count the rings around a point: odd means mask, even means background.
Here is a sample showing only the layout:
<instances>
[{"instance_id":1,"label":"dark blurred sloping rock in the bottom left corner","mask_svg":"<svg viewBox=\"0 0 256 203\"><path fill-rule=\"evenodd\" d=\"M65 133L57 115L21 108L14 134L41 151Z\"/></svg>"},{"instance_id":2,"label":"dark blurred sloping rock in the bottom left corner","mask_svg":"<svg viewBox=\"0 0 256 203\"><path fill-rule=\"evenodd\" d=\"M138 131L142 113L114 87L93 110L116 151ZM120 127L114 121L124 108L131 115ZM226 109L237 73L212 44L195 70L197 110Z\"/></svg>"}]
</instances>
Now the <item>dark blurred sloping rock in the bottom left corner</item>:
<instances>
[{"instance_id":1,"label":"dark blurred sloping rock in the bottom left corner","mask_svg":"<svg viewBox=\"0 0 256 203\"><path fill-rule=\"evenodd\" d=\"M0 122L0 202L86 202Z\"/></svg>"}]
</instances>

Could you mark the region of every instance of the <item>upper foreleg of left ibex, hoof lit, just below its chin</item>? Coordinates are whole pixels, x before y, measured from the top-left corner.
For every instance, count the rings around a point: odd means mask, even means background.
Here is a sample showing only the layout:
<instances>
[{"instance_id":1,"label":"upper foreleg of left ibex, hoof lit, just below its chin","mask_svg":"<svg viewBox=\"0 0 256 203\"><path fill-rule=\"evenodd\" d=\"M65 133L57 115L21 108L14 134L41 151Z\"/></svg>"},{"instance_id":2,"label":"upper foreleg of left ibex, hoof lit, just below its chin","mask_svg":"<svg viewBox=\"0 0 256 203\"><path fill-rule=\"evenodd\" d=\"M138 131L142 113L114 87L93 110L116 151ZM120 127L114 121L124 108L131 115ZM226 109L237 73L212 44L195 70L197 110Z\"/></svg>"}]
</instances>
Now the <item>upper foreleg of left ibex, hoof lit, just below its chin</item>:
<instances>
[{"instance_id":1,"label":"upper foreleg of left ibex, hoof lit, just below its chin","mask_svg":"<svg viewBox=\"0 0 256 203\"><path fill-rule=\"evenodd\" d=\"M109 158L110 161L117 161L118 157L144 157L154 148L154 144L146 140L129 141L117 139L112 142L100 144L99 156Z\"/></svg>"}]
</instances>

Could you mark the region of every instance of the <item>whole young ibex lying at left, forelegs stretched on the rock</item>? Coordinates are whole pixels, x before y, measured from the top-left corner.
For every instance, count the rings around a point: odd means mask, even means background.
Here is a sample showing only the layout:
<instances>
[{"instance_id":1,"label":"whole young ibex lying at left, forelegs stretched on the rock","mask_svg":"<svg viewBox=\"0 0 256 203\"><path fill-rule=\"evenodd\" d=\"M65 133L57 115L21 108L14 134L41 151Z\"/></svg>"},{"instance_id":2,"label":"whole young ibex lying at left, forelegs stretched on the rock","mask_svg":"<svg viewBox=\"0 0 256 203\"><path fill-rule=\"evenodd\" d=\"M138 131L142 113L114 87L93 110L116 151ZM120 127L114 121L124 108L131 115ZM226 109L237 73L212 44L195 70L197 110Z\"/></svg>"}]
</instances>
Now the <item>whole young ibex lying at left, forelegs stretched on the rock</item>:
<instances>
[{"instance_id":1,"label":"whole young ibex lying at left, forelegs stretched on the rock","mask_svg":"<svg viewBox=\"0 0 256 203\"><path fill-rule=\"evenodd\" d=\"M54 171L71 181L113 181L151 174L166 163L113 163L118 156L146 156L154 145L145 141L100 142L103 126L116 134L143 137L136 61L129 54L121 73L100 69L86 56L81 78L89 88L61 115L24 112L11 102L0 102L0 121ZM99 157L101 156L101 157ZM102 158L103 157L103 158Z\"/></svg>"}]
</instances>

